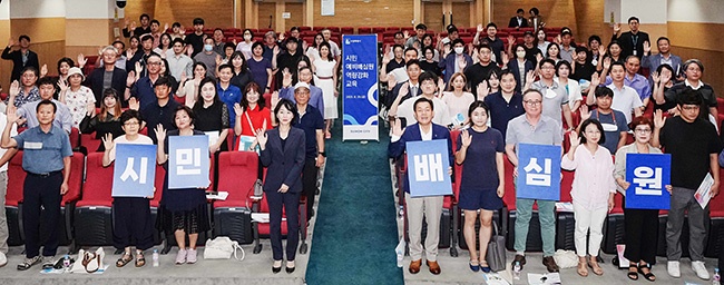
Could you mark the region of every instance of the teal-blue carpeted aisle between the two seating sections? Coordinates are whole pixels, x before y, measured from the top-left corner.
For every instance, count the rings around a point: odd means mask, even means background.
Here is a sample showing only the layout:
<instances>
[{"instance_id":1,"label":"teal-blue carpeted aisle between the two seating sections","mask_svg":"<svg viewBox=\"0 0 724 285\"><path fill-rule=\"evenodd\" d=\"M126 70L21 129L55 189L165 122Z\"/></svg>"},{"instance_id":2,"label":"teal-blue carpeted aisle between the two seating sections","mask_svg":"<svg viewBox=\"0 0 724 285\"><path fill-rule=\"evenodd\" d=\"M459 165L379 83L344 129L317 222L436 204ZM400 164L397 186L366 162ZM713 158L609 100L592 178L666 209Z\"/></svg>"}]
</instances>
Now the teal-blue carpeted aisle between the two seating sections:
<instances>
[{"instance_id":1,"label":"teal-blue carpeted aisle between the two seating sections","mask_svg":"<svg viewBox=\"0 0 724 285\"><path fill-rule=\"evenodd\" d=\"M341 140L336 124L326 141L326 173L306 283L403 284L397 267L394 199L387 159L389 138L380 142Z\"/></svg>"}]
</instances>

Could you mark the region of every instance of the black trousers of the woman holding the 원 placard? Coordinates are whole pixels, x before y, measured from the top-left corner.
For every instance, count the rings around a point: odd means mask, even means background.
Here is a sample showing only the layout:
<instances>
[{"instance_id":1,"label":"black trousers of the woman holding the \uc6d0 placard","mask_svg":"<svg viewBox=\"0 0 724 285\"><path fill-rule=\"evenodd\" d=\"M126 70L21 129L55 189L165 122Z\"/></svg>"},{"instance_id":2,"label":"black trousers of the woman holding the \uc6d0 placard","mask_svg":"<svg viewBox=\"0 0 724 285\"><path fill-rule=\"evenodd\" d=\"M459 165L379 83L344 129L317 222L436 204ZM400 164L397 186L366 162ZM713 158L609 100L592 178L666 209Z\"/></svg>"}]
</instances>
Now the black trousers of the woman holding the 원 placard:
<instances>
[{"instance_id":1,"label":"black trousers of the woman holding the \uc6d0 placard","mask_svg":"<svg viewBox=\"0 0 724 285\"><path fill-rule=\"evenodd\" d=\"M632 263L644 261L656 263L656 240L658 240L657 209L624 208L626 250L624 257Z\"/></svg>"}]
</instances>

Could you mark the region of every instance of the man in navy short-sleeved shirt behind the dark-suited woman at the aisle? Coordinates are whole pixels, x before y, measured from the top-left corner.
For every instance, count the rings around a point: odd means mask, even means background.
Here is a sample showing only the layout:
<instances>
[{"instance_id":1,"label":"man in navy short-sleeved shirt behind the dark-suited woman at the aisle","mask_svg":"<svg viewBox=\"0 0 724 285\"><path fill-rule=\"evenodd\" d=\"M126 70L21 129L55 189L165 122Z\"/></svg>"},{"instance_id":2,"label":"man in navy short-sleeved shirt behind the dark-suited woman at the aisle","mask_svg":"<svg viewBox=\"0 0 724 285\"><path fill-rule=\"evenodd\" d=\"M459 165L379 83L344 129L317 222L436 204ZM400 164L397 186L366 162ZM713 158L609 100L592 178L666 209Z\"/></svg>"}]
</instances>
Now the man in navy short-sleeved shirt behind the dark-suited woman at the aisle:
<instances>
[{"instance_id":1,"label":"man in navy short-sleeved shirt behind the dark-suited woman at the aisle","mask_svg":"<svg viewBox=\"0 0 724 285\"><path fill-rule=\"evenodd\" d=\"M306 159L302 170L302 188L306 196L306 220L309 222L314 215L316 174L326 157L324 153L324 118L316 108L309 105L310 86L307 83L299 82L294 86L294 99L296 101L296 118L299 118L297 121L294 121L294 127L304 130L306 136Z\"/></svg>"}]
</instances>

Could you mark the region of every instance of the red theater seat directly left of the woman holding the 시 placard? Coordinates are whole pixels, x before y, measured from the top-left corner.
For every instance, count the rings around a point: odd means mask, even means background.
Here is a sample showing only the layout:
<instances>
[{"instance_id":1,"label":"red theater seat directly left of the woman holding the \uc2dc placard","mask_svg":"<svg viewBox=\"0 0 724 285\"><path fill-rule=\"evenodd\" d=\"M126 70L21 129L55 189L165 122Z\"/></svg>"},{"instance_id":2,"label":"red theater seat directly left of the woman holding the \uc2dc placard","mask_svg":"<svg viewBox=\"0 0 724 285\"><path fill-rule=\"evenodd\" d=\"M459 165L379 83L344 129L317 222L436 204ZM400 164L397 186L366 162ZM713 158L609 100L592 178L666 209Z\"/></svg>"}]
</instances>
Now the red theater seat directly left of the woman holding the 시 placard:
<instances>
[{"instance_id":1,"label":"red theater seat directly left of the woman holding the \uc2dc placard","mask_svg":"<svg viewBox=\"0 0 724 285\"><path fill-rule=\"evenodd\" d=\"M86 161L86 181L74 220L77 246L112 245L114 167L102 167L102 156L91 153Z\"/></svg>"}]
</instances>

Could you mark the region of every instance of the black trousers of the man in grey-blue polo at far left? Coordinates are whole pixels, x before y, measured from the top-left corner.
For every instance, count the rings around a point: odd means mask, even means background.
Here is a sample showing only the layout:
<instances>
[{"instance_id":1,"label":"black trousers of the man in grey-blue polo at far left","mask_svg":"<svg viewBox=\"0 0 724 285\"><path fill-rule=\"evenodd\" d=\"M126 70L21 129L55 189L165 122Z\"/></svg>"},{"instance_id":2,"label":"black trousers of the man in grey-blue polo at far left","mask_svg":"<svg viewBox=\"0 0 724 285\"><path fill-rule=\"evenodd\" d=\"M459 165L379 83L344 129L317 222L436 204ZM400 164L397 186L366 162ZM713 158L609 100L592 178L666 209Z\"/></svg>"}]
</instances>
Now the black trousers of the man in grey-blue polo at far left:
<instances>
[{"instance_id":1,"label":"black trousers of the man in grey-blue polo at far left","mask_svg":"<svg viewBox=\"0 0 724 285\"><path fill-rule=\"evenodd\" d=\"M60 171L41 176L28 173L22 186L22 226L26 235L26 257L40 254L43 243L43 256L55 256L58 250L59 226L48 226L48 236L40 236L40 220L47 225L60 225Z\"/></svg>"}]
</instances>

